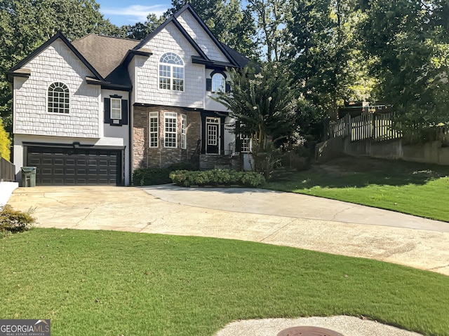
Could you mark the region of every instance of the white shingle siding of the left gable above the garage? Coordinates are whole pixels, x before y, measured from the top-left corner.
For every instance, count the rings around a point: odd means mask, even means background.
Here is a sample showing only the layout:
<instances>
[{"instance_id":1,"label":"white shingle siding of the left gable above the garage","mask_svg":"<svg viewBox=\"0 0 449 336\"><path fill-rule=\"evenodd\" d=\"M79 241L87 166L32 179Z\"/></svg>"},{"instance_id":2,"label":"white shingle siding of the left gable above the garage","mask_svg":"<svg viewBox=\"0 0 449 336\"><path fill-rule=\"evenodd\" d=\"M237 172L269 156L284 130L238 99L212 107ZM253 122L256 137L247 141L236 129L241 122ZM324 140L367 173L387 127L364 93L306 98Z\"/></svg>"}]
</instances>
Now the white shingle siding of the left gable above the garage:
<instances>
[{"instance_id":1,"label":"white shingle siding of the left gable above the garage","mask_svg":"<svg viewBox=\"0 0 449 336\"><path fill-rule=\"evenodd\" d=\"M60 40L23 66L29 78L15 78L15 134L98 138L100 87L87 85L91 71ZM65 83L70 92L69 114L48 113L48 85Z\"/></svg>"}]
</instances>

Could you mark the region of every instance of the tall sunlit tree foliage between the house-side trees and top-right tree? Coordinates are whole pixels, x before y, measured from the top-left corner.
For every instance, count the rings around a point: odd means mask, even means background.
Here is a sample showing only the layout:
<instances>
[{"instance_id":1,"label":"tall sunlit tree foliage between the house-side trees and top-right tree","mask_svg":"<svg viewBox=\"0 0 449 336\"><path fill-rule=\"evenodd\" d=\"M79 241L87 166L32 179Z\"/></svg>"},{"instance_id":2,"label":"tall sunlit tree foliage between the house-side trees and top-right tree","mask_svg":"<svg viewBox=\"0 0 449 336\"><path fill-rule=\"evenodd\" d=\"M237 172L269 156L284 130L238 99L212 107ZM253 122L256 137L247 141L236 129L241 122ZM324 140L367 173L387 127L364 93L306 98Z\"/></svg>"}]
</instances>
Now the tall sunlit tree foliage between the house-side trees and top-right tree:
<instances>
[{"instance_id":1,"label":"tall sunlit tree foliage between the house-side trees and top-right tree","mask_svg":"<svg viewBox=\"0 0 449 336\"><path fill-rule=\"evenodd\" d=\"M291 0L286 62L304 97L334 118L344 102L370 99L375 85L357 38L362 18L354 0Z\"/></svg>"}]
</instances>

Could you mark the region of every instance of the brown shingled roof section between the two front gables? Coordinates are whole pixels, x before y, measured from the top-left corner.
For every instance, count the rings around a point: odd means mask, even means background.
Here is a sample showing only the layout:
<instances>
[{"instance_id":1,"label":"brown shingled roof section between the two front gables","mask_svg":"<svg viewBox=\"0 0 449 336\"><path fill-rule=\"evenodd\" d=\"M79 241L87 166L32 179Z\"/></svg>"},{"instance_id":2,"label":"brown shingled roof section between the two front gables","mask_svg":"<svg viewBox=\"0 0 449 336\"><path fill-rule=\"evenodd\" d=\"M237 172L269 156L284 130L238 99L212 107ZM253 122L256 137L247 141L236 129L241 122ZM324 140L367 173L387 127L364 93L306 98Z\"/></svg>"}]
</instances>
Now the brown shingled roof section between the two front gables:
<instances>
[{"instance_id":1,"label":"brown shingled roof section between the two front gables","mask_svg":"<svg viewBox=\"0 0 449 336\"><path fill-rule=\"evenodd\" d=\"M106 82L131 87L128 69L122 60L139 41L88 34L72 44L98 70Z\"/></svg>"}]
</instances>

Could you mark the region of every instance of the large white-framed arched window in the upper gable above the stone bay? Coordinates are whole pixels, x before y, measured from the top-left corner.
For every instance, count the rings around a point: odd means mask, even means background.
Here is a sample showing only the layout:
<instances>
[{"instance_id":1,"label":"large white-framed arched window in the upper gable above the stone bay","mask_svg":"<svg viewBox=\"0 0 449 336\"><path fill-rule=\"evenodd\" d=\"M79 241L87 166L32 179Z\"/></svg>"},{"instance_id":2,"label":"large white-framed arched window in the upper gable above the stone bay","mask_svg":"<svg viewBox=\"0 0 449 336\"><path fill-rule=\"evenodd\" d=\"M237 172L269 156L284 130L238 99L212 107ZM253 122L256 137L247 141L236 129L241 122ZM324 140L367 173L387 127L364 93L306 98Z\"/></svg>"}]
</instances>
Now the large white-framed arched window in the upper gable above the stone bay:
<instances>
[{"instance_id":1,"label":"large white-framed arched window in the upper gable above the stone bay","mask_svg":"<svg viewBox=\"0 0 449 336\"><path fill-rule=\"evenodd\" d=\"M159 89L184 91L184 62L174 52L159 59Z\"/></svg>"}]
</instances>

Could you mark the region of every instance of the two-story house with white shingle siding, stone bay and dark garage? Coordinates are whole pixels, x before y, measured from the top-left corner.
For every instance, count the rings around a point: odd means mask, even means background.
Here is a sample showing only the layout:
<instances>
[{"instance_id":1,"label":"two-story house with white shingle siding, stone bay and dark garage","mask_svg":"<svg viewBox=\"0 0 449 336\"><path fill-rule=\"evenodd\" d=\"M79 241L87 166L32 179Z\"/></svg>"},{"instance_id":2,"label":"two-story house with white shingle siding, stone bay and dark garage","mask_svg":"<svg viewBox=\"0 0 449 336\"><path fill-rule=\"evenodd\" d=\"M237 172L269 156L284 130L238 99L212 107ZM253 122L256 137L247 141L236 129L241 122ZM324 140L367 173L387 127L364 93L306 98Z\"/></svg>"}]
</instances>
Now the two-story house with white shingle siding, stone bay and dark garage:
<instances>
[{"instance_id":1,"label":"two-story house with white shingle siding, stone bay and dark garage","mask_svg":"<svg viewBox=\"0 0 449 336\"><path fill-rule=\"evenodd\" d=\"M139 167L213 166L235 135L211 97L246 64L189 4L142 41L56 34L7 73L17 179L34 166L38 186L128 185Z\"/></svg>"}]
</instances>

